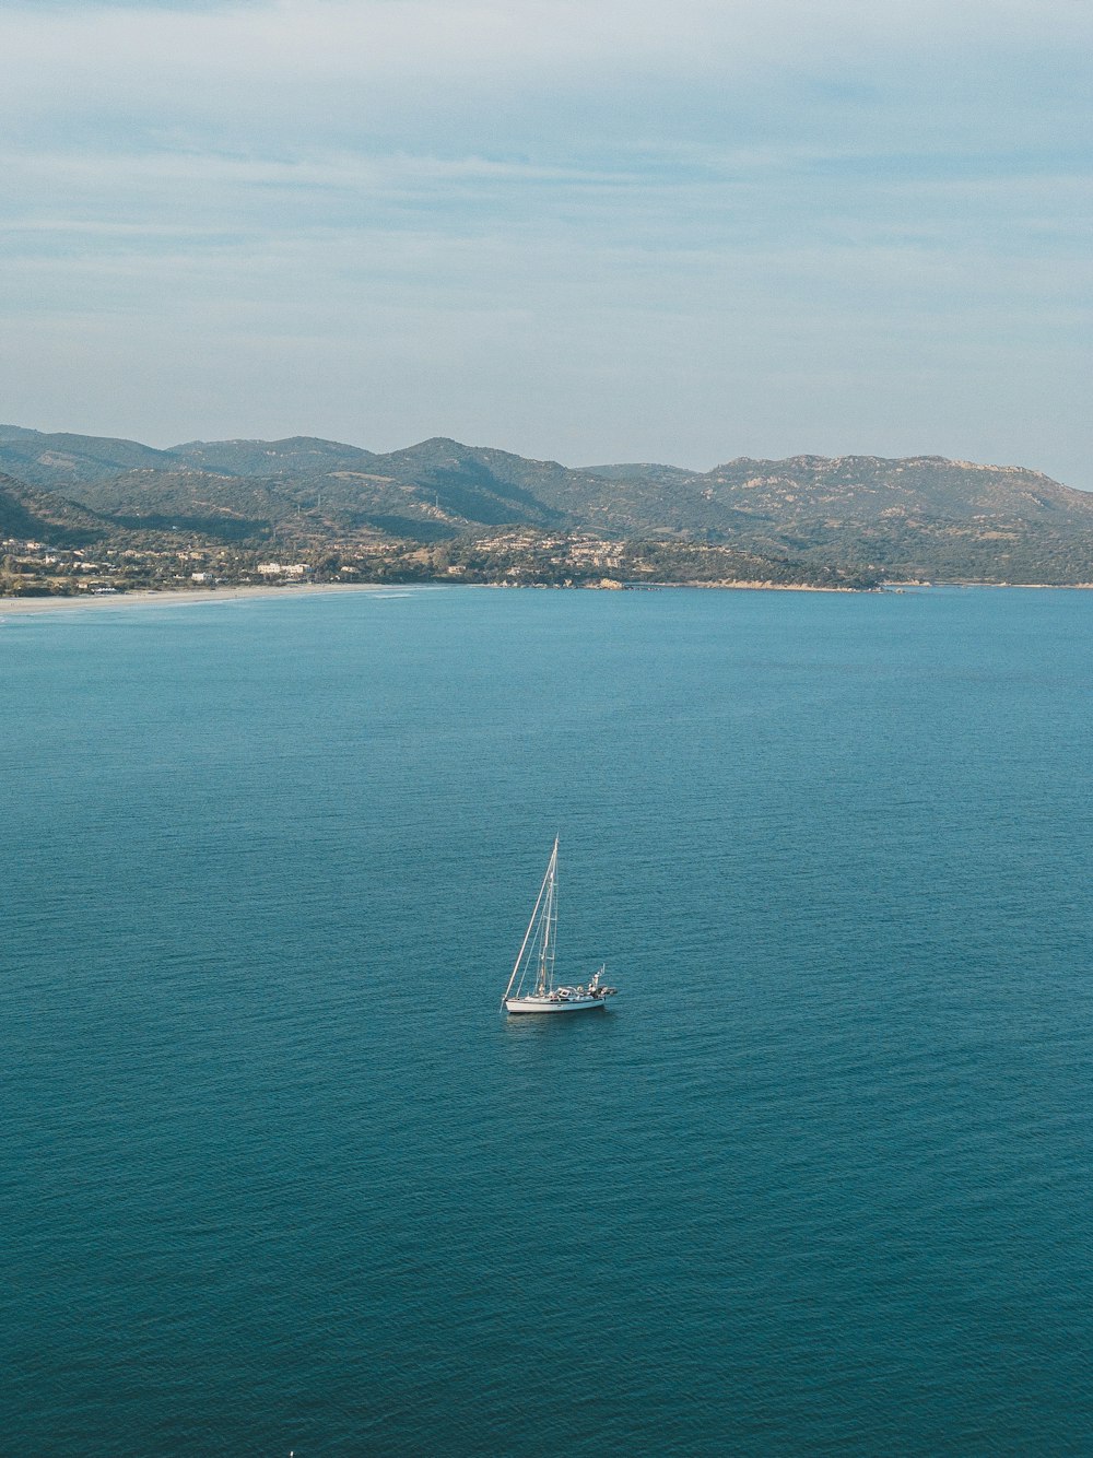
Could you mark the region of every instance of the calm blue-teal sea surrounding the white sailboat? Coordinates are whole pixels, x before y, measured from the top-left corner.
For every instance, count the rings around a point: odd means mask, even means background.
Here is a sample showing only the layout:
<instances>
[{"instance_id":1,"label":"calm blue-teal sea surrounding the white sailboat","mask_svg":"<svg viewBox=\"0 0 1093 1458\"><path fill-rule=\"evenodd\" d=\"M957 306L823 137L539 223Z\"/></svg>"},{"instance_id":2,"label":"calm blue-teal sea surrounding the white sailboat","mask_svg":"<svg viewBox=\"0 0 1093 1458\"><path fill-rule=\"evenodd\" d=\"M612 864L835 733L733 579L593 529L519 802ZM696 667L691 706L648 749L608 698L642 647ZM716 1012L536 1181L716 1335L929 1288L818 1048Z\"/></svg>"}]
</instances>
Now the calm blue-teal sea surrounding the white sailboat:
<instances>
[{"instance_id":1,"label":"calm blue-teal sea surrounding the white sailboat","mask_svg":"<svg viewBox=\"0 0 1093 1458\"><path fill-rule=\"evenodd\" d=\"M0 614L0 1436L1093 1452L1093 596ZM555 831L560 971L497 1005Z\"/></svg>"}]
</instances>

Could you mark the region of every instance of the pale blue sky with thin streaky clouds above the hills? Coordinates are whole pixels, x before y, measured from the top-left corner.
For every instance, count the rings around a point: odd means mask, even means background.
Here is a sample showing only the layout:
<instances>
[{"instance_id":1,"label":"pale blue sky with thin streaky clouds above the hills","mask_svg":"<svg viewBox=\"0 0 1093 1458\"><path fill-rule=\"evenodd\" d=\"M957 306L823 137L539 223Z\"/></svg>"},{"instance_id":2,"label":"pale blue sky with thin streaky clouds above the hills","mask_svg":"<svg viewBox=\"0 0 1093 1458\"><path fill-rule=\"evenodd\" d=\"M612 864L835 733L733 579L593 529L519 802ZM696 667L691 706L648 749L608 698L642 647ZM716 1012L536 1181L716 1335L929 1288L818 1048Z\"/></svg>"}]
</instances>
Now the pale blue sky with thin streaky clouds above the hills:
<instances>
[{"instance_id":1,"label":"pale blue sky with thin streaky clouds above the hills","mask_svg":"<svg viewBox=\"0 0 1093 1458\"><path fill-rule=\"evenodd\" d=\"M1093 488L1093 0L0 0L0 420Z\"/></svg>"}]
</instances>

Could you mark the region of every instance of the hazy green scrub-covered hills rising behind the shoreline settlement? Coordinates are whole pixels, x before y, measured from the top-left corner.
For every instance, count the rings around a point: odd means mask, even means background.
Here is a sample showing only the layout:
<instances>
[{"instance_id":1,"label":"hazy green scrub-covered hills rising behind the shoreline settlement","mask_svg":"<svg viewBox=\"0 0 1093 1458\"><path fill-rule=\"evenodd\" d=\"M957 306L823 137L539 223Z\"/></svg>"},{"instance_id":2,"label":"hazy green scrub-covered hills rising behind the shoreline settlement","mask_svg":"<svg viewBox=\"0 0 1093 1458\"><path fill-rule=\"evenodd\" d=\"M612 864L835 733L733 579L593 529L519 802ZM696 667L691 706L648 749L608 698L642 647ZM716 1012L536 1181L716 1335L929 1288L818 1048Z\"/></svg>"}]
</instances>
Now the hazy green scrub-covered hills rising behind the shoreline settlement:
<instances>
[{"instance_id":1,"label":"hazy green scrub-covered hills rising behind the shoreline settlement","mask_svg":"<svg viewBox=\"0 0 1093 1458\"><path fill-rule=\"evenodd\" d=\"M0 471L106 529L233 544L428 545L533 529L724 548L756 572L797 563L855 580L1093 580L1093 493L1025 467L934 455L740 456L697 472L571 468L443 436L389 452L313 436L159 451L0 426ZM39 497L25 509L48 525Z\"/></svg>"}]
</instances>

